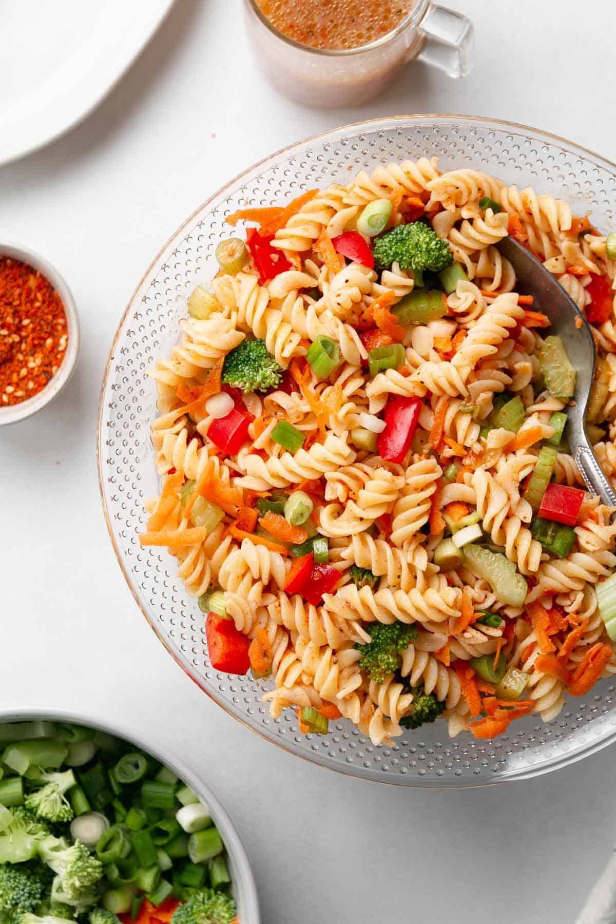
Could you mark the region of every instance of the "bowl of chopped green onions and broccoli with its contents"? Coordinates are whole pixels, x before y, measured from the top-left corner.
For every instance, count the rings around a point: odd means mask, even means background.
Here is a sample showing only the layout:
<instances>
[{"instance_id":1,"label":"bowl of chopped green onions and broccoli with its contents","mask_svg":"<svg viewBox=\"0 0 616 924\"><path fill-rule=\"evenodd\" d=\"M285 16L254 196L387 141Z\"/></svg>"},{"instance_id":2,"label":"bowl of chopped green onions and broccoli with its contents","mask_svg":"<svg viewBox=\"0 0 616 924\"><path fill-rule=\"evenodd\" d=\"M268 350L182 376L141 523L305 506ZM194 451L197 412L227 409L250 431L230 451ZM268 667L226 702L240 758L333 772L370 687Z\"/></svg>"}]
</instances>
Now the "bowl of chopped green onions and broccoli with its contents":
<instances>
[{"instance_id":1,"label":"bowl of chopped green onions and broccoli with its contents","mask_svg":"<svg viewBox=\"0 0 616 924\"><path fill-rule=\"evenodd\" d=\"M130 738L57 711L0 716L0 920L259 924L216 796Z\"/></svg>"}]
</instances>

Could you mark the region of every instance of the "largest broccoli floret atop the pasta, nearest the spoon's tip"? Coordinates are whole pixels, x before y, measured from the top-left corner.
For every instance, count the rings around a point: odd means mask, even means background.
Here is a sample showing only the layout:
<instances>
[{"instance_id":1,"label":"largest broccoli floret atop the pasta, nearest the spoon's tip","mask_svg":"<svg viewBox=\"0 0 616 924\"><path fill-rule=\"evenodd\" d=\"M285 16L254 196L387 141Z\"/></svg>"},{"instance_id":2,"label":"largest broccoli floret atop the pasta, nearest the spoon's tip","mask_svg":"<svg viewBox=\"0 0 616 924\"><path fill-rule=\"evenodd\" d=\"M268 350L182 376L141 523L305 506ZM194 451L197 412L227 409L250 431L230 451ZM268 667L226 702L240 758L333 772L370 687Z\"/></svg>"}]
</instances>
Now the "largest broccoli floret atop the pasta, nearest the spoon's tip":
<instances>
[{"instance_id":1,"label":"largest broccoli floret atop the pasta, nearest the spoon's tip","mask_svg":"<svg viewBox=\"0 0 616 924\"><path fill-rule=\"evenodd\" d=\"M453 263L449 244L425 222L398 225L374 242L374 259L380 269L393 262L403 270L413 270L418 286L422 285L422 271L438 273Z\"/></svg>"}]
</instances>

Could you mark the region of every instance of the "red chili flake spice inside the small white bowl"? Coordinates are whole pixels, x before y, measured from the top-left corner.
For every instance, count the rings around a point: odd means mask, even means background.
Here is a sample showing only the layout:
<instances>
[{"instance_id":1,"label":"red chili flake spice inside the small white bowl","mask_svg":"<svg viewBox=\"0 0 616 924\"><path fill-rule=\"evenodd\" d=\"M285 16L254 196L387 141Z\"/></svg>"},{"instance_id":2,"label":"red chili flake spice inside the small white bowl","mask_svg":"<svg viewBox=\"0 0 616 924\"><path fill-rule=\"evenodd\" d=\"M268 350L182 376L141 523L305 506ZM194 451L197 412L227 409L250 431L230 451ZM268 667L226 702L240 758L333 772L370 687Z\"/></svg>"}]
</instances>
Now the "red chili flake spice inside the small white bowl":
<instances>
[{"instance_id":1,"label":"red chili flake spice inside the small white bowl","mask_svg":"<svg viewBox=\"0 0 616 924\"><path fill-rule=\"evenodd\" d=\"M64 359L68 328L62 299L28 263L0 256L0 400L38 394Z\"/></svg>"}]
</instances>

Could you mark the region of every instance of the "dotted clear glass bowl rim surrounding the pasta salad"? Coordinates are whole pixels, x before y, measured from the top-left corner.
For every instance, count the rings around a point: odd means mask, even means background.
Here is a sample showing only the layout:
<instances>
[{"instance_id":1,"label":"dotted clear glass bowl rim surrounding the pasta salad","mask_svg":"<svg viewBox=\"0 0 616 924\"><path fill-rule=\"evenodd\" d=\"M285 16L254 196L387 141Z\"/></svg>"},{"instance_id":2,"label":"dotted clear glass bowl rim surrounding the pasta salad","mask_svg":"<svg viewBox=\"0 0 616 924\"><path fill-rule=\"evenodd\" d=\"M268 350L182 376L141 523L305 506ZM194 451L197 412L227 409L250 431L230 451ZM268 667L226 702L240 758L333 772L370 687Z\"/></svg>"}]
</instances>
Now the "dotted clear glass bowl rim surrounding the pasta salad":
<instances>
[{"instance_id":1,"label":"dotted clear glass bowl rim surrounding the pasta salad","mask_svg":"<svg viewBox=\"0 0 616 924\"><path fill-rule=\"evenodd\" d=\"M518 187L533 186L592 210L593 222L616 227L616 165L535 128L465 116L401 116L338 128L301 141L251 167L182 225L141 280L115 336L99 409L99 473L107 526L130 589L175 661L224 710L274 744L322 766L382 783L475 786L548 772L590 754L616 737L616 687L601 681L586 699L570 699L550 724L531 716L494 741L446 724L407 732L393 747L374 747L344 721L327 736L298 732L287 710L272 719L261 695L267 684L211 668L204 618L176 577L175 559L142 549L143 503L160 490L150 427L156 394L147 369L168 356L178 338L187 296L217 272L214 249L228 237L225 215L246 206L283 203L303 189L346 183L358 170L437 154L441 170L473 167Z\"/></svg>"}]
</instances>

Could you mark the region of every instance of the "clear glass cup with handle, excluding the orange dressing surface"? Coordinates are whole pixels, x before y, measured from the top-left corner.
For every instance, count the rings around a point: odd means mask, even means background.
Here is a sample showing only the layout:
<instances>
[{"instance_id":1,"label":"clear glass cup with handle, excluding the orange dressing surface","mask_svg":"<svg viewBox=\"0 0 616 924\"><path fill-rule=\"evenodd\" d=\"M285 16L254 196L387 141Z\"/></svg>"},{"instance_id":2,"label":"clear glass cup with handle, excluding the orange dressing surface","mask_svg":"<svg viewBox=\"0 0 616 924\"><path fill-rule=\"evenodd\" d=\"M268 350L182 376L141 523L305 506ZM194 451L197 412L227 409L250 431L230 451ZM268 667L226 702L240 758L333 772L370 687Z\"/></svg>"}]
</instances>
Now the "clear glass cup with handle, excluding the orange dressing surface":
<instances>
[{"instance_id":1,"label":"clear glass cup with handle, excluding the orange dressing surface","mask_svg":"<svg viewBox=\"0 0 616 924\"><path fill-rule=\"evenodd\" d=\"M375 42L342 50L289 39L272 26L255 0L245 0L244 8L260 66L298 103L331 108L367 103L415 59L454 78L465 77L474 64L473 23L430 0L417 0L400 25Z\"/></svg>"}]
</instances>

